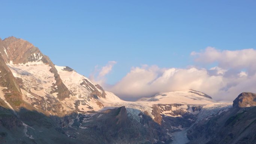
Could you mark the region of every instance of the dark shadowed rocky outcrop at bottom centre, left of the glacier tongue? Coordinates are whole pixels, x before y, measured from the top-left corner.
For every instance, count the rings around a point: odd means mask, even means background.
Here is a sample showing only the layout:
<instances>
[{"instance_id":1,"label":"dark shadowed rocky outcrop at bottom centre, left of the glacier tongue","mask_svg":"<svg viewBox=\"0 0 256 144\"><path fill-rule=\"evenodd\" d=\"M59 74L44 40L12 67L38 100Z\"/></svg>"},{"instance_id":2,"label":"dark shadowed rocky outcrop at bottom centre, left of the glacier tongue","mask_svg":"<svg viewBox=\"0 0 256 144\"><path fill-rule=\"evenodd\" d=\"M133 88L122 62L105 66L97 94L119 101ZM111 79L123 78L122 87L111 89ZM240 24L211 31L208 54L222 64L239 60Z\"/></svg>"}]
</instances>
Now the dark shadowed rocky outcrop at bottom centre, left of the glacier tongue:
<instances>
[{"instance_id":1,"label":"dark shadowed rocky outcrop at bottom centre, left of the glacier tongue","mask_svg":"<svg viewBox=\"0 0 256 144\"><path fill-rule=\"evenodd\" d=\"M77 122L73 127L77 130L69 130L69 134L75 135L88 143L104 144L143 144L155 140L170 141L167 131L154 122L151 117L140 113L140 121L128 116L125 107L105 110L82 122L79 129ZM75 127L74 125L77 125ZM76 132L82 133L78 135Z\"/></svg>"}]
</instances>

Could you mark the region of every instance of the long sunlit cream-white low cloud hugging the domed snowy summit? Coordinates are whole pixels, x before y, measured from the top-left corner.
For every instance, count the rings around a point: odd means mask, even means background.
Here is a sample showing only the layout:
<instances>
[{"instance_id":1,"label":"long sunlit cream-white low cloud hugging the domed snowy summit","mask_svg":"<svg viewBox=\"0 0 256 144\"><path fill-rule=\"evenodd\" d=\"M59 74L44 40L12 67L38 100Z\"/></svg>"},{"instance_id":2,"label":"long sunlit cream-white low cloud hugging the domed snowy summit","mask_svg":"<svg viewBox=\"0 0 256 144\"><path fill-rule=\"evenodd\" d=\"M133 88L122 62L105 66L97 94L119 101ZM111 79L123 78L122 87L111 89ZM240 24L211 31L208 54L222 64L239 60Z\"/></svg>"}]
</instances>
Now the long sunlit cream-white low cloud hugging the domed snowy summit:
<instances>
[{"instance_id":1,"label":"long sunlit cream-white low cloud hugging the domed snowy summit","mask_svg":"<svg viewBox=\"0 0 256 144\"><path fill-rule=\"evenodd\" d=\"M152 96L158 92L196 89L216 94L224 85L221 76L210 76L206 69L136 67L116 85L108 88L123 99ZM215 87L215 88L213 88Z\"/></svg>"}]
</instances>

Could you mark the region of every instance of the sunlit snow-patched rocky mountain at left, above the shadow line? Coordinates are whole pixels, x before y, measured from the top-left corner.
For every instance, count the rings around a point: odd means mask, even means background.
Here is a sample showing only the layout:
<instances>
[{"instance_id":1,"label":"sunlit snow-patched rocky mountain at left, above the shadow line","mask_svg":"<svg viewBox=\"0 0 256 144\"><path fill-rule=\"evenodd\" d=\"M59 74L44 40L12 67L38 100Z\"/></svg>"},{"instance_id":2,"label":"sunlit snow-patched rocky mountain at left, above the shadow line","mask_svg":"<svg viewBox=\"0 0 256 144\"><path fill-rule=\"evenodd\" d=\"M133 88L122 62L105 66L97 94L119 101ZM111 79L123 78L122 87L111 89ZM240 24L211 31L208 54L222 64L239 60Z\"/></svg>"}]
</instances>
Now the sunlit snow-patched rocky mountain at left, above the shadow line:
<instances>
[{"instance_id":1,"label":"sunlit snow-patched rocky mountain at left, above the shadow line","mask_svg":"<svg viewBox=\"0 0 256 144\"><path fill-rule=\"evenodd\" d=\"M1 41L1 56L19 85L24 104L46 115L95 113L104 105L105 91L68 67L54 65L40 50L22 39ZM7 91L11 91L7 89ZM21 102L22 103L22 102Z\"/></svg>"}]
</instances>

